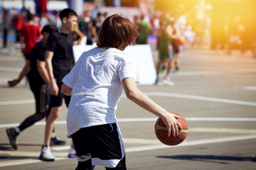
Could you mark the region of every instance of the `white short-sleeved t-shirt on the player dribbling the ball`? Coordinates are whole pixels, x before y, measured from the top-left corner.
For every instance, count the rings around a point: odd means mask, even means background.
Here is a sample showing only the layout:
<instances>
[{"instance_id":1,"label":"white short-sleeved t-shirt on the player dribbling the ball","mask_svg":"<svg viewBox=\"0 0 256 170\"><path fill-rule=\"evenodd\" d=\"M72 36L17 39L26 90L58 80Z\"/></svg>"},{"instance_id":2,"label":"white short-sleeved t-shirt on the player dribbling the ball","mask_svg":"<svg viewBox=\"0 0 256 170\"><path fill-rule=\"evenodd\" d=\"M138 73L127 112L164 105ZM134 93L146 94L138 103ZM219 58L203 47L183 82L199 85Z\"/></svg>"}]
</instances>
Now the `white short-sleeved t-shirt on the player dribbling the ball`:
<instances>
[{"instance_id":1,"label":"white short-sleeved t-shirt on the player dribbling the ball","mask_svg":"<svg viewBox=\"0 0 256 170\"><path fill-rule=\"evenodd\" d=\"M117 123L115 111L122 95L122 79L139 74L131 56L116 48L95 47L83 52L63 83L73 89L68 106L68 137L80 128Z\"/></svg>"}]
</instances>

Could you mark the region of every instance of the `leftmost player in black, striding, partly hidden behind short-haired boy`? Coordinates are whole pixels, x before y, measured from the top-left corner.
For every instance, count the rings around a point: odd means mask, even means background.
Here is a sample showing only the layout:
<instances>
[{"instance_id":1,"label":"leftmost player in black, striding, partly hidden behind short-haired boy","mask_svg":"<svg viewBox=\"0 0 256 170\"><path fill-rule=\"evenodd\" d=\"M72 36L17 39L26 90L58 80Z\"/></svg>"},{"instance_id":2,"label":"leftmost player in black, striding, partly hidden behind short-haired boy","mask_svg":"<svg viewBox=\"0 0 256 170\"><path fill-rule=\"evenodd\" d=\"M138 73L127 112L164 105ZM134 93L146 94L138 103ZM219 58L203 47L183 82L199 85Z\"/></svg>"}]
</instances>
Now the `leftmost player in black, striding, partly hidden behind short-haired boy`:
<instances>
[{"instance_id":1,"label":"leftmost player in black, striding, partly hidden behind short-haired boy","mask_svg":"<svg viewBox=\"0 0 256 170\"><path fill-rule=\"evenodd\" d=\"M28 116L21 125L16 128L6 129L6 133L9 137L11 147L17 149L16 137L18 134L30 127L34 123L46 117L49 113L49 103L50 103L50 94L49 88L46 83L49 83L49 77L46 71L46 42L48 36L51 32L55 31L56 27L53 25L45 26L42 30L43 39L36 43L35 47L31 51L31 55L26 64L23 67L21 74L19 74L18 79L14 79L8 82L10 87L16 86L21 79L28 74L29 86L36 100L36 113ZM51 137L52 145L64 145L65 141L57 140L55 133L53 132Z\"/></svg>"}]
</instances>

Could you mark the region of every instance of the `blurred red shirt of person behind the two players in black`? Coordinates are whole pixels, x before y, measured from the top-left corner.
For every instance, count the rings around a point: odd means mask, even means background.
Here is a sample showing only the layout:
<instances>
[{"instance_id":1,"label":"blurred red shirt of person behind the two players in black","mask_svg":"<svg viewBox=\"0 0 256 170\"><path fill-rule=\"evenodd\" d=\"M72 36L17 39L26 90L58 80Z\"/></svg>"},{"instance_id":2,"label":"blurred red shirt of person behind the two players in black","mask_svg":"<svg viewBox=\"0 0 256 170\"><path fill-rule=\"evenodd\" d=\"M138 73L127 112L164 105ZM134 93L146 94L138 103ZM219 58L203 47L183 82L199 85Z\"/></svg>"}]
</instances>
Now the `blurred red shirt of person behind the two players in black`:
<instances>
[{"instance_id":1,"label":"blurred red shirt of person behind the two players in black","mask_svg":"<svg viewBox=\"0 0 256 170\"><path fill-rule=\"evenodd\" d=\"M21 37L24 38L25 43L25 48L23 49L25 55L31 52L41 35L42 33L39 26L26 24L21 28Z\"/></svg>"}]
</instances>

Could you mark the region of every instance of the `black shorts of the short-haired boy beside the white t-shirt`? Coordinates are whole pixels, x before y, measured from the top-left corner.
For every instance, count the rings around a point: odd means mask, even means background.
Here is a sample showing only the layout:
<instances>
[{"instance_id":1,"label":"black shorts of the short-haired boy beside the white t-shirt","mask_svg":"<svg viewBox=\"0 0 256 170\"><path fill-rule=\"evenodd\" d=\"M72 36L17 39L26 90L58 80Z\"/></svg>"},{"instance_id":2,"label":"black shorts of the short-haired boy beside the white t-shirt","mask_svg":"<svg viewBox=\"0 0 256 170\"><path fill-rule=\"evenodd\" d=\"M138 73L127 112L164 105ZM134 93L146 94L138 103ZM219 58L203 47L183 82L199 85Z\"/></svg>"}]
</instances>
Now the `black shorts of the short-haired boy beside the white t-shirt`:
<instances>
[{"instance_id":1,"label":"black shorts of the short-haired boy beside the white t-shirt","mask_svg":"<svg viewBox=\"0 0 256 170\"><path fill-rule=\"evenodd\" d=\"M61 93L61 86L63 83L57 83L58 88L59 88L59 93L58 96L50 96L50 107L58 107L62 106L63 103L63 98L65 99L65 105L68 108L68 105L70 103L71 96L65 96L65 94Z\"/></svg>"}]
</instances>

